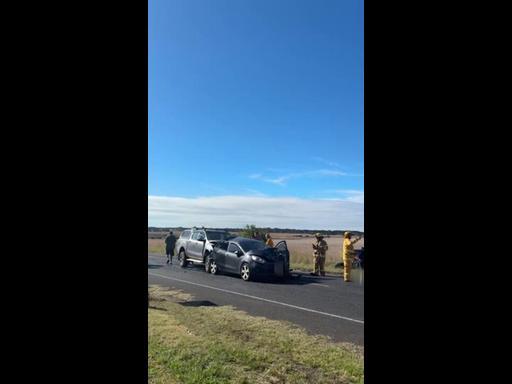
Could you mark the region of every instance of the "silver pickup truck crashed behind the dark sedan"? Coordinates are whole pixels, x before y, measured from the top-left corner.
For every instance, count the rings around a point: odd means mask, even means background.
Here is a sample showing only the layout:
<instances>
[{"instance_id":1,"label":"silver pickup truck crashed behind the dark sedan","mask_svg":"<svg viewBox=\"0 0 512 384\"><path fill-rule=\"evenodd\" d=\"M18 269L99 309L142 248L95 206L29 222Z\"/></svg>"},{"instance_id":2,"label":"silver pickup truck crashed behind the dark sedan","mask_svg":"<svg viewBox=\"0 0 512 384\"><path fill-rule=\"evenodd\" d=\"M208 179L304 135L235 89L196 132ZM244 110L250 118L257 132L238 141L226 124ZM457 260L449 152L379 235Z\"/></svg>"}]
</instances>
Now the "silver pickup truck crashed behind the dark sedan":
<instances>
[{"instance_id":1,"label":"silver pickup truck crashed behind the dark sedan","mask_svg":"<svg viewBox=\"0 0 512 384\"><path fill-rule=\"evenodd\" d=\"M185 268L189 262L204 263L217 241L228 240L233 237L232 234L223 230L186 229L176 241L174 251L178 255L180 266Z\"/></svg>"}]
</instances>

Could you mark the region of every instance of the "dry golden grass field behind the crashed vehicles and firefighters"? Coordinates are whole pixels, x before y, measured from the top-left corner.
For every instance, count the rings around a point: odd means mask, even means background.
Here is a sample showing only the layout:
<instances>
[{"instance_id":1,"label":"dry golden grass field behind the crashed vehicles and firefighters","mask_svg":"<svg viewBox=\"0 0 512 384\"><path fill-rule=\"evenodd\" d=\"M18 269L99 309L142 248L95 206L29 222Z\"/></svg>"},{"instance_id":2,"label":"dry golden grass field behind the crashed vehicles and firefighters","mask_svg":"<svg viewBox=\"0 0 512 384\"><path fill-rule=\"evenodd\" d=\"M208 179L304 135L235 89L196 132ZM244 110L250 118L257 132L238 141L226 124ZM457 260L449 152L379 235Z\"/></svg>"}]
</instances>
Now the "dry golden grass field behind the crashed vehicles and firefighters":
<instances>
[{"instance_id":1,"label":"dry golden grass field behind the crashed vehicles and firefighters","mask_svg":"<svg viewBox=\"0 0 512 384\"><path fill-rule=\"evenodd\" d=\"M167 233L153 232L148 236L148 252L160 255L165 254L164 237ZM175 233L176 235L176 233ZM274 243L285 240L290 250L291 267L293 269L300 269L304 271L313 270L313 247L312 243L315 241L314 236L293 233L273 233L272 238ZM329 250L327 251L327 258L325 260L325 269L327 272L341 272L341 268L336 268L335 265L341 262L341 244L342 236L326 237ZM364 246L364 237L356 243L354 248L360 249Z\"/></svg>"}]
</instances>

